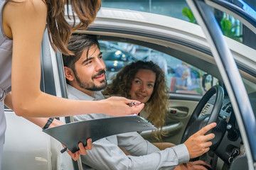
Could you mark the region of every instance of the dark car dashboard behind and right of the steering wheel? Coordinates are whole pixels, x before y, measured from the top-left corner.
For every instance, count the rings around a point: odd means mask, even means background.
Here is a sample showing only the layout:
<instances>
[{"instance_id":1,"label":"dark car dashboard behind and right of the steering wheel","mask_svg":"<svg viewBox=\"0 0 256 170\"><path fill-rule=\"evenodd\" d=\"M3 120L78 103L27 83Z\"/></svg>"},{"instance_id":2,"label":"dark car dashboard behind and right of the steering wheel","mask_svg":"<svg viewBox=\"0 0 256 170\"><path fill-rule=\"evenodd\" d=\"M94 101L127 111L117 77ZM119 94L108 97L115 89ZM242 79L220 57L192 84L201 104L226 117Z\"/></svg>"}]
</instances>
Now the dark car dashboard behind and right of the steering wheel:
<instances>
[{"instance_id":1,"label":"dark car dashboard behind and right of the steering wheel","mask_svg":"<svg viewBox=\"0 0 256 170\"><path fill-rule=\"evenodd\" d=\"M214 102L215 96L212 96L201 111L201 115L210 115ZM242 137L232 104L227 96L223 99L217 124L217 128L213 130L215 139L212 141L211 152L229 166L235 157L245 154L245 149L243 149Z\"/></svg>"}]
</instances>

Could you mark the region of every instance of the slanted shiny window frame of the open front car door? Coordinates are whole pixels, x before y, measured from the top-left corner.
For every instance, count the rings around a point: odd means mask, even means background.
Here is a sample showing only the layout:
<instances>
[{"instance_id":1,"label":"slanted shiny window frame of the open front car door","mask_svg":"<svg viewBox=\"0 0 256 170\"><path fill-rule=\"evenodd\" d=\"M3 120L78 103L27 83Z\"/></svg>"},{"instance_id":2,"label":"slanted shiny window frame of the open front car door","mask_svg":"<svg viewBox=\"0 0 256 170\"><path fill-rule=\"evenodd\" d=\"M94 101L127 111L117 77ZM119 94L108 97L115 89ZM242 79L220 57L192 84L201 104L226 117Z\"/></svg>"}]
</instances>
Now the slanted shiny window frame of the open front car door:
<instances>
[{"instance_id":1,"label":"slanted shiny window frame of the open front car door","mask_svg":"<svg viewBox=\"0 0 256 170\"><path fill-rule=\"evenodd\" d=\"M218 26L213 13L205 1L186 0L190 6L196 20L206 33L206 38L210 43L213 57L220 69L220 74L223 78L225 86L230 96L230 101L235 111L236 120L240 127L243 143L250 169L255 169L252 162L256 162L256 137L254 135L256 130L255 115L252 111L245 86L242 82L242 77L239 76L238 67L236 67L233 55L230 49L223 40L223 34ZM208 1L209 2L209 1ZM225 68L225 69L224 69ZM232 83L230 83L230 81ZM246 134L246 135L245 135Z\"/></svg>"}]
</instances>

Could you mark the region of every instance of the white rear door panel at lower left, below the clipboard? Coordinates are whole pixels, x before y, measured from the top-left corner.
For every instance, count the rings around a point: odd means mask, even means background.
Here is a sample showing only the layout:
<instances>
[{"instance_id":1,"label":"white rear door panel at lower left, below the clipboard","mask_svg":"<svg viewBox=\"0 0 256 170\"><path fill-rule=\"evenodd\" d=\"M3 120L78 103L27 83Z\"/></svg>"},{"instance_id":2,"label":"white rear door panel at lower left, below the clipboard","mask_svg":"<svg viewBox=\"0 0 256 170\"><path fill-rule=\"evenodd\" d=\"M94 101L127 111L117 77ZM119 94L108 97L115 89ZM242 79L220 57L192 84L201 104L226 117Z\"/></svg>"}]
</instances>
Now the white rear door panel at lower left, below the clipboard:
<instances>
[{"instance_id":1,"label":"white rear door panel at lower left, below the clipboard","mask_svg":"<svg viewBox=\"0 0 256 170\"><path fill-rule=\"evenodd\" d=\"M6 122L2 169L50 169L50 137L12 111L6 112Z\"/></svg>"}]
</instances>

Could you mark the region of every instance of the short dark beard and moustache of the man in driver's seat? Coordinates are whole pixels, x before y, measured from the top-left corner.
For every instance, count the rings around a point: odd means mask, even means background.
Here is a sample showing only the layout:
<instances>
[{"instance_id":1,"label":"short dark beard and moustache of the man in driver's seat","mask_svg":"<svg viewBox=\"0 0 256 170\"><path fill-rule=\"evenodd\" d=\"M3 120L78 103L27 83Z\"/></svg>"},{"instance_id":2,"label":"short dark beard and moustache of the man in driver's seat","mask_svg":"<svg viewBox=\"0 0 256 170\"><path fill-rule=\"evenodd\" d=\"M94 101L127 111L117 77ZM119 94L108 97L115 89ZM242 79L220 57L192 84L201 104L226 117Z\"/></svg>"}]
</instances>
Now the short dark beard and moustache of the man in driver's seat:
<instances>
[{"instance_id":1,"label":"short dark beard and moustache of the man in driver's seat","mask_svg":"<svg viewBox=\"0 0 256 170\"><path fill-rule=\"evenodd\" d=\"M95 74L94 76L92 76L92 80L95 79L95 77L100 76L101 74L105 75L105 70L102 69L100 72L98 72L97 74ZM85 90L89 90L89 91L100 91L102 89L105 89L107 86L107 79L105 76L105 79L103 79L102 81L100 81L100 86L96 86L96 84L92 81L90 83L85 83L82 82L80 80L80 78L78 77L78 74L76 72L74 72L75 75L75 79L78 82L78 86L80 86L80 88L85 89Z\"/></svg>"}]
</instances>

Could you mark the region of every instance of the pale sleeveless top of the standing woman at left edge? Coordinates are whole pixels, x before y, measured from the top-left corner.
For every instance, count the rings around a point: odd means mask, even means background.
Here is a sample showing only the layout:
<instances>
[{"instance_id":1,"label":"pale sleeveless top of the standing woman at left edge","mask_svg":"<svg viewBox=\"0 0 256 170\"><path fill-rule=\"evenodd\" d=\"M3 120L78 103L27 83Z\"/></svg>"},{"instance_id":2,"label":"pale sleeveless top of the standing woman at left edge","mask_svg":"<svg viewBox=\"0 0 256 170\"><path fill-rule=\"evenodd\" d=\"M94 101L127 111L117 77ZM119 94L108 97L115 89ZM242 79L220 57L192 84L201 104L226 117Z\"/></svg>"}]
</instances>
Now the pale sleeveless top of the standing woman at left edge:
<instances>
[{"instance_id":1,"label":"pale sleeveless top of the standing woman at left edge","mask_svg":"<svg viewBox=\"0 0 256 170\"><path fill-rule=\"evenodd\" d=\"M1 157L4 147L4 132L6 130L6 119L4 116L4 94L11 91L11 57L13 42L4 35L2 26L3 7L6 1L0 0L0 170Z\"/></svg>"}]
</instances>

